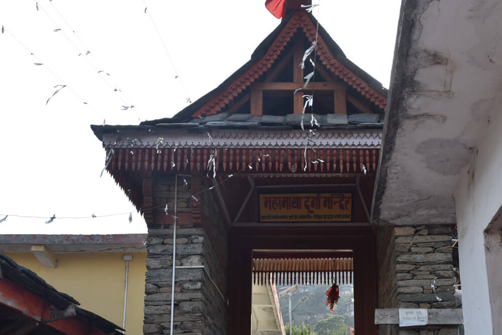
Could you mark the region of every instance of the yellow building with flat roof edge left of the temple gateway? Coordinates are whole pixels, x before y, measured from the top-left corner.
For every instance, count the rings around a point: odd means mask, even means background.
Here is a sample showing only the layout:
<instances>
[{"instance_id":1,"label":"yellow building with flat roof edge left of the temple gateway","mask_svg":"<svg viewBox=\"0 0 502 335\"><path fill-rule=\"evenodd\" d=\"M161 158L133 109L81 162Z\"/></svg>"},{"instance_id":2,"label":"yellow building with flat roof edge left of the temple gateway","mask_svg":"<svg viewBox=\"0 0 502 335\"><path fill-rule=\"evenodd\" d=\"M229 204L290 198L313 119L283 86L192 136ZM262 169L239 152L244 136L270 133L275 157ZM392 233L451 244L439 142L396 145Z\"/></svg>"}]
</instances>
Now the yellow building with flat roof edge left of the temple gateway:
<instances>
[{"instance_id":1,"label":"yellow building with flat roof edge left of the temple gateway","mask_svg":"<svg viewBox=\"0 0 502 335\"><path fill-rule=\"evenodd\" d=\"M0 235L0 252L73 296L80 307L120 326L125 321L128 334L142 334L145 239L146 234Z\"/></svg>"}]
</instances>

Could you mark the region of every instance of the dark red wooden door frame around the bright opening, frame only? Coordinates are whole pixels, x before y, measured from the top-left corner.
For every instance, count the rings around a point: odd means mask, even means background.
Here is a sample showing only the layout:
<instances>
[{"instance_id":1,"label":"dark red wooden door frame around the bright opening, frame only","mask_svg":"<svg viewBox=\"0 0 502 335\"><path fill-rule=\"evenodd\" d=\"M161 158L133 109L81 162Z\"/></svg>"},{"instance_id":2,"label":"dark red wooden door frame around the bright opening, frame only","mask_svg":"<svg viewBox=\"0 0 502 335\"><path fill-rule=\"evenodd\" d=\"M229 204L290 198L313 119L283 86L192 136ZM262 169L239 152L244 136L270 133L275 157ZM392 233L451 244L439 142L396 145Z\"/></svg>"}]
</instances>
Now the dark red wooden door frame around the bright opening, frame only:
<instances>
[{"instance_id":1,"label":"dark red wooden door frame around the bright opening, frame only","mask_svg":"<svg viewBox=\"0 0 502 335\"><path fill-rule=\"evenodd\" d=\"M376 250L371 227L240 227L230 232L228 335L250 334L252 258L257 249L353 250L355 329L359 334L376 334Z\"/></svg>"}]
</instances>

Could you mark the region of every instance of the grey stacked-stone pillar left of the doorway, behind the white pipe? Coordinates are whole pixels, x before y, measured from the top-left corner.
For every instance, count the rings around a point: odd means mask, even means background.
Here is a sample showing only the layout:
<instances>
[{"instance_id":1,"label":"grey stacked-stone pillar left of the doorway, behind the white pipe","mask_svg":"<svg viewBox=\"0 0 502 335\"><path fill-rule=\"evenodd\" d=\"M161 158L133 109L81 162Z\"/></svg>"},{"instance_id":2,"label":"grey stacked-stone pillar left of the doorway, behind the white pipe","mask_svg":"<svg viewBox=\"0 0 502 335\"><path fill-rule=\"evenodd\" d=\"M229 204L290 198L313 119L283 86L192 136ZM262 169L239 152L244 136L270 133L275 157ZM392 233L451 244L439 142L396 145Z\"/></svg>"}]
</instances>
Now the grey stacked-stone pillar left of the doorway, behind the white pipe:
<instances>
[{"instance_id":1,"label":"grey stacked-stone pillar left of the doorway, behind the white pipe","mask_svg":"<svg viewBox=\"0 0 502 335\"><path fill-rule=\"evenodd\" d=\"M187 178L190 180L189 178ZM178 198L190 196L178 180ZM204 188L204 187L203 187ZM184 194L187 193L187 194ZM184 225L176 229L176 266L202 265L226 297L227 234L212 196L198 196L203 204L205 227ZM174 200L174 176L163 176L154 183L157 204ZM181 203L180 203L181 202ZM181 206L180 206L181 204ZM178 202L178 212L190 212L188 200ZM173 210L174 205L169 206ZM162 206L162 211L164 206ZM170 213L171 214L171 213ZM220 227L221 226L221 227ZM149 228L145 283L145 334L170 332L173 268L173 226ZM215 240L215 237L218 240ZM222 255L223 261L216 255ZM226 303L204 269L176 269L174 289L174 331L185 335L226 334Z\"/></svg>"}]
</instances>

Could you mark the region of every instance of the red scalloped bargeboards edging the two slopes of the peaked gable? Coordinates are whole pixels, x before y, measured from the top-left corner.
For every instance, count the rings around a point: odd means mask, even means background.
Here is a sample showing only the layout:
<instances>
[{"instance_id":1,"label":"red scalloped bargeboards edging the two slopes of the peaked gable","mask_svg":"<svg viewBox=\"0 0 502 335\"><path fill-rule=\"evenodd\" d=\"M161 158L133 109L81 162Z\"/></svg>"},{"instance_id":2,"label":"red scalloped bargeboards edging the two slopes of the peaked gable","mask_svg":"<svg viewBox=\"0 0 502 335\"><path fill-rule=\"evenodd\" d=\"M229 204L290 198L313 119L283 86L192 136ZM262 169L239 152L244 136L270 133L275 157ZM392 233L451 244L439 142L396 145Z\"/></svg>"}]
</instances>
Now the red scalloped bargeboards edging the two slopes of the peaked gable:
<instances>
[{"instance_id":1,"label":"red scalloped bargeboards edging the two slopes of the peaked gable","mask_svg":"<svg viewBox=\"0 0 502 335\"><path fill-rule=\"evenodd\" d=\"M225 106L272 68L288 43L291 42L298 29L304 32L306 38L310 42L315 41L316 23L314 17L305 11L293 12L293 14L290 15L289 18L286 18L283 23L281 23L280 27L278 27L280 29L279 34L275 37L266 53L261 58L254 61L252 64L248 62L248 64L237 71L241 73L232 75L229 78L230 80L227 79L228 83L225 82L224 84L226 85L224 87L220 85L216 90L206 94L193 105L182 110L175 118L196 118L220 113ZM328 43L330 43L329 46ZM336 55L332 52L333 45L335 45L337 49L334 51L338 52ZM330 74L336 76L350 88L361 94L362 97L370 101L376 108L380 109L382 112L385 111L387 90L384 89L378 81L374 80L346 59L343 52L331 40L331 37L325 33L322 27L319 27L317 38L317 57ZM254 59L256 59L256 57L252 56L252 61ZM361 77L365 77L366 80Z\"/></svg>"}]
</instances>

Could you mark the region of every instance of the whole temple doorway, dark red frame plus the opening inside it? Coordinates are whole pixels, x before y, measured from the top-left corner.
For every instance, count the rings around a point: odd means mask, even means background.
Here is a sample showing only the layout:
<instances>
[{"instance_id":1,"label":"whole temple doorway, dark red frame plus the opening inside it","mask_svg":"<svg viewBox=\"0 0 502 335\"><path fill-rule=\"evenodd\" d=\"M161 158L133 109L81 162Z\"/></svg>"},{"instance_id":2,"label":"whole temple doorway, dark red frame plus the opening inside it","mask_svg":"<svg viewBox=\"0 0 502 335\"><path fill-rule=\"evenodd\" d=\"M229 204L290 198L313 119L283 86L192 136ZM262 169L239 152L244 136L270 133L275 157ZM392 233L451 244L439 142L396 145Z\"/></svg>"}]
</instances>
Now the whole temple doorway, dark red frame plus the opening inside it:
<instances>
[{"instance_id":1,"label":"whole temple doorway, dark red frame plus the opening inside it","mask_svg":"<svg viewBox=\"0 0 502 335\"><path fill-rule=\"evenodd\" d=\"M287 335L292 311L293 329L376 334L374 249L370 227L233 229L228 333Z\"/></svg>"}]
</instances>

